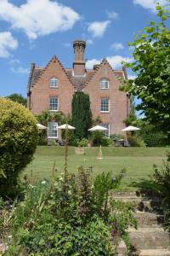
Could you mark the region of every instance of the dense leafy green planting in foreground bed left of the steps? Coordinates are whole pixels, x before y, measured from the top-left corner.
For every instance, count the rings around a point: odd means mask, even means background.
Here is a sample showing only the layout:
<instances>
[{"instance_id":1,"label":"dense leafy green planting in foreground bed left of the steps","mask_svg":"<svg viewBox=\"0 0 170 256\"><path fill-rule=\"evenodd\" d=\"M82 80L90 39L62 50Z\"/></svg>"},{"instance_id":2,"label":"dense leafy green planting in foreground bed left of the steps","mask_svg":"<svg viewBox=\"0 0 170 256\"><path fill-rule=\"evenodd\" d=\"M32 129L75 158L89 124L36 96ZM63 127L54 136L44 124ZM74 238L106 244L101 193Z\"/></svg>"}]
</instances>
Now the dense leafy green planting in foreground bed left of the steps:
<instances>
[{"instance_id":1,"label":"dense leafy green planting in foreground bed left of the steps","mask_svg":"<svg viewBox=\"0 0 170 256\"><path fill-rule=\"evenodd\" d=\"M116 255L117 230L127 240L127 226L134 225L133 207L113 206L111 198L124 171L114 178L103 172L94 183L91 172L81 166L77 175L29 185L10 214L12 239L5 255Z\"/></svg>"}]
</instances>

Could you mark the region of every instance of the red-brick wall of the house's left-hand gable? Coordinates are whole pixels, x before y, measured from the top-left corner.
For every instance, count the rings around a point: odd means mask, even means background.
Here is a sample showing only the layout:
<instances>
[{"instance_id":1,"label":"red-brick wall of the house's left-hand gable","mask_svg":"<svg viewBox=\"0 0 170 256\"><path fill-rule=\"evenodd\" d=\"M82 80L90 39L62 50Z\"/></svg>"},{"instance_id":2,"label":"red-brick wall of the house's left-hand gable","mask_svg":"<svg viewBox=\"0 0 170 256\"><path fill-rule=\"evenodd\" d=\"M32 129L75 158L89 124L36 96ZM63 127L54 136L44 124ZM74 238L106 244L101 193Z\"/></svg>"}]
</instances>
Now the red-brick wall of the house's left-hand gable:
<instances>
[{"instance_id":1,"label":"red-brick wall of the house's left-hand gable","mask_svg":"<svg viewBox=\"0 0 170 256\"><path fill-rule=\"evenodd\" d=\"M51 78L59 79L58 88L50 88ZM42 110L48 109L49 96L58 96L59 111L65 114L71 113L71 99L74 88L71 85L65 71L55 58L49 62L42 76L37 80L31 90L31 111L33 113L42 113Z\"/></svg>"}]
</instances>

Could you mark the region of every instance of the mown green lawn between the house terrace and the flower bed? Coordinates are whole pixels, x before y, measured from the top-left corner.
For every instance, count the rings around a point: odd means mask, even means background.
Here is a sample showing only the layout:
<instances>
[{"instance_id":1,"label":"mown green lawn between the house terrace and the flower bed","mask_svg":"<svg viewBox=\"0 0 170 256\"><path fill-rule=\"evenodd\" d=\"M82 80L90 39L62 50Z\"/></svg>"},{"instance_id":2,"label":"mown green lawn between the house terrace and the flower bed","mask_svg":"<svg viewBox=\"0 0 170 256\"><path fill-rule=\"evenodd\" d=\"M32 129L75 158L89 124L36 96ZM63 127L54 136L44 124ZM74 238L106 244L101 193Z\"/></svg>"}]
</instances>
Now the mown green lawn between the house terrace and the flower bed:
<instances>
[{"instance_id":1,"label":"mown green lawn between the house terrace and the flower bed","mask_svg":"<svg viewBox=\"0 0 170 256\"><path fill-rule=\"evenodd\" d=\"M166 157L167 148L102 148L103 159L97 159L99 148L85 148L85 156L75 154L75 148L69 147L68 170L77 172L78 166L93 167L93 175L112 171L113 177L126 167L127 173L122 182L122 190L136 190L150 187L150 175L153 165L161 166ZM55 169L64 170L64 147L39 146L34 160L28 165L22 176L28 175L31 181L52 177Z\"/></svg>"}]
</instances>

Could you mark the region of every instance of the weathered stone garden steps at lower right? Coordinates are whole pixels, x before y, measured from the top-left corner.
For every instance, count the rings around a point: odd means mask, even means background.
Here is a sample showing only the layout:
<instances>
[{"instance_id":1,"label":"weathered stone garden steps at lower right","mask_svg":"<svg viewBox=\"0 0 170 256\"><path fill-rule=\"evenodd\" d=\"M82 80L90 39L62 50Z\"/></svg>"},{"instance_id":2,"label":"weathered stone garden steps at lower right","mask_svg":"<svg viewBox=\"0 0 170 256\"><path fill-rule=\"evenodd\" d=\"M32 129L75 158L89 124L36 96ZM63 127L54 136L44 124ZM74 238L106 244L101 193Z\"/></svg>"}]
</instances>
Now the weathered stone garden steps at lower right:
<instances>
[{"instance_id":1,"label":"weathered stone garden steps at lower right","mask_svg":"<svg viewBox=\"0 0 170 256\"><path fill-rule=\"evenodd\" d=\"M170 234L163 230L163 216L158 211L160 201L153 195L136 192L116 192L116 200L135 201L138 230L129 228L135 256L170 256Z\"/></svg>"}]
</instances>

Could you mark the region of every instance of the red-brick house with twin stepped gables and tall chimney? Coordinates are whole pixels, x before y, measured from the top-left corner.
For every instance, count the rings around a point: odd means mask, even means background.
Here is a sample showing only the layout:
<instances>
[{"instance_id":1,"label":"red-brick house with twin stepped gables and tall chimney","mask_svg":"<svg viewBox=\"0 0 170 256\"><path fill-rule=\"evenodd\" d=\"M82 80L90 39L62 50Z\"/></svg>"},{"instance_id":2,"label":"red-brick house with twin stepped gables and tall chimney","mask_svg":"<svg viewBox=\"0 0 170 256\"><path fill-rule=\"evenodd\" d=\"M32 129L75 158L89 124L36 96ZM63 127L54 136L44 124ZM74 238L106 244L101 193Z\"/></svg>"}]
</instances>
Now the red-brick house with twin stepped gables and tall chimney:
<instances>
[{"instance_id":1,"label":"red-brick house with twin stepped gables and tall chimney","mask_svg":"<svg viewBox=\"0 0 170 256\"><path fill-rule=\"evenodd\" d=\"M129 97L119 90L120 77L127 79L126 67L114 70L106 59L93 69L87 69L84 61L86 43L76 40L73 43L75 60L72 68L64 68L54 57L46 67L31 63L27 88L27 108L39 114L49 109L52 112L71 113L73 94L81 90L90 97L93 117L100 117L103 126L108 128L106 136L121 133L125 127L123 120L129 114ZM58 124L48 123L48 138L57 138Z\"/></svg>"}]
</instances>

